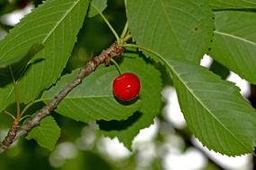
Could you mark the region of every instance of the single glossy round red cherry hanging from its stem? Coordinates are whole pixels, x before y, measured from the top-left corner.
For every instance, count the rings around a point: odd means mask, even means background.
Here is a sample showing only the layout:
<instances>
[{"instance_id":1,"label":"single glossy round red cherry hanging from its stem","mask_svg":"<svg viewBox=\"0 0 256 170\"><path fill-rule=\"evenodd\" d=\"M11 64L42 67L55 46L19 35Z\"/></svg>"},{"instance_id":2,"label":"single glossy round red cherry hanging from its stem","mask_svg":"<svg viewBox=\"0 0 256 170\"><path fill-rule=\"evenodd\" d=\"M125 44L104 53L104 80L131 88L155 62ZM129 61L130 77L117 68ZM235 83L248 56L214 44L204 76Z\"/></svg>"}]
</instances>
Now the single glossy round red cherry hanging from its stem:
<instances>
[{"instance_id":1,"label":"single glossy round red cherry hanging from its stem","mask_svg":"<svg viewBox=\"0 0 256 170\"><path fill-rule=\"evenodd\" d=\"M137 98L140 90L140 81L134 73L127 72L119 75L113 82L113 93L116 98L129 101Z\"/></svg>"}]
</instances>

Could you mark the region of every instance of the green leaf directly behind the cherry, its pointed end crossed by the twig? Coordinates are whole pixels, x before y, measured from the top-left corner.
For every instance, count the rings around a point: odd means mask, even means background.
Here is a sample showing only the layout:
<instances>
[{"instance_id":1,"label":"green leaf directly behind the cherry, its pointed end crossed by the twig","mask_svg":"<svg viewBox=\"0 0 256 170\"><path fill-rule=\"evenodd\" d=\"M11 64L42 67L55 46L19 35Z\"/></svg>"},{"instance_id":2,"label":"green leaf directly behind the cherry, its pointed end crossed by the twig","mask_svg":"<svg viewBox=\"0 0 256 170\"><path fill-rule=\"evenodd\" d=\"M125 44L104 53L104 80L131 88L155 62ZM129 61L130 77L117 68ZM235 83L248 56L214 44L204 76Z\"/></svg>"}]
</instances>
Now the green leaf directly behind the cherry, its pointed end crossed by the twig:
<instances>
[{"instance_id":1,"label":"green leaf directly behind the cherry, its pointed end crossed by the twig","mask_svg":"<svg viewBox=\"0 0 256 170\"><path fill-rule=\"evenodd\" d=\"M58 91L75 79L77 72L78 70L63 76L55 87L43 94L41 99L48 102L49 99L54 98ZM112 81L118 75L119 72L114 66L98 68L61 101L56 112L84 123L95 120L127 119L141 107L142 103L137 100L132 105L120 104L114 98Z\"/></svg>"}]
</instances>

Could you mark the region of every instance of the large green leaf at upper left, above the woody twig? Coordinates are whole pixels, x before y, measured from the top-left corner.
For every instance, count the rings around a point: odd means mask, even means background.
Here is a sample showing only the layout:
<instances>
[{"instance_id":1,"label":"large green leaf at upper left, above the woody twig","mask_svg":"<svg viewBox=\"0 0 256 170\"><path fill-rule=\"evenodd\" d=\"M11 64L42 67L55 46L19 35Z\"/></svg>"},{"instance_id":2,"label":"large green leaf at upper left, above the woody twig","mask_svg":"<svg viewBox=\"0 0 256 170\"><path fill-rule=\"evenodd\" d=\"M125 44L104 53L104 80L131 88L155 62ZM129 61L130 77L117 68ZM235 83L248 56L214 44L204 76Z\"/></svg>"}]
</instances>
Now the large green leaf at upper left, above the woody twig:
<instances>
[{"instance_id":1,"label":"large green leaf at upper left, above the woody twig","mask_svg":"<svg viewBox=\"0 0 256 170\"><path fill-rule=\"evenodd\" d=\"M89 0L48 0L25 16L10 33L0 41L0 63L17 61L34 43L44 48L33 57L39 60L19 80L21 102L37 98L43 89L57 81L75 44L76 34L82 27ZM3 92L4 90L8 92ZM13 85L4 86L0 92L11 93ZM10 99L10 102L13 98ZM0 103L1 107L10 104ZM4 106L3 106L4 105ZM2 110L0 110L2 111Z\"/></svg>"}]
</instances>

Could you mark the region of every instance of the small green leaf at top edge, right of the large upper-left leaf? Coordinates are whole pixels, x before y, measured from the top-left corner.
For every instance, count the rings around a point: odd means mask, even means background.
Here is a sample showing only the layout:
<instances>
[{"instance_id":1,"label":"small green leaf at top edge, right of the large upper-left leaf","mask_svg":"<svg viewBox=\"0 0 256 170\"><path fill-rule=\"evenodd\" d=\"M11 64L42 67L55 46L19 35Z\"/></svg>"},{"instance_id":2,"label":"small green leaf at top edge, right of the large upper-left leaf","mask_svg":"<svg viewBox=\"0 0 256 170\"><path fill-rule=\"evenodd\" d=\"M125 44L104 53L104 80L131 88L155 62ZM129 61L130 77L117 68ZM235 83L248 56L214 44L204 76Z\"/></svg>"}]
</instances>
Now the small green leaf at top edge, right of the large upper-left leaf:
<instances>
[{"instance_id":1,"label":"small green leaf at top edge, right of the large upper-left leaf","mask_svg":"<svg viewBox=\"0 0 256 170\"><path fill-rule=\"evenodd\" d=\"M107 6L107 0L92 0L89 7L88 17L92 18L99 12L102 13Z\"/></svg>"}]
</instances>

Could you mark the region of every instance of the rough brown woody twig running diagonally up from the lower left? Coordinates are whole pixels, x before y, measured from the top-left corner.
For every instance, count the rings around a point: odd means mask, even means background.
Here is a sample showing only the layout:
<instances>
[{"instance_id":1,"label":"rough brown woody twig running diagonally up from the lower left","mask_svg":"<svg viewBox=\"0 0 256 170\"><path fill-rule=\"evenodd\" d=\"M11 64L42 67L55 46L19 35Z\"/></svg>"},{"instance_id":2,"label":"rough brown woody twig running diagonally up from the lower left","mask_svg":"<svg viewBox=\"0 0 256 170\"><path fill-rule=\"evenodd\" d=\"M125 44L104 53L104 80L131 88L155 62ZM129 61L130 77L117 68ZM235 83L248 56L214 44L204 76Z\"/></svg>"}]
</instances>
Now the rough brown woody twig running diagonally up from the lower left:
<instances>
[{"instance_id":1,"label":"rough brown woody twig running diagonally up from the lower left","mask_svg":"<svg viewBox=\"0 0 256 170\"><path fill-rule=\"evenodd\" d=\"M77 74L74 81L66 86L65 89L62 89L55 98L53 98L46 106L42 107L36 115L34 115L31 120L24 123L21 128L18 128L17 123L13 123L7 136L0 143L0 154L3 153L6 149L10 147L13 141L20 138L22 135L28 133L34 126L40 124L42 118L46 117L53 111L59 102L66 97L66 95L74 89L76 86L81 84L84 77L94 72L100 64L110 64L110 59L116 56L122 55L124 52L124 47L120 47L117 43L113 43L109 48L102 51L101 55L93 57L88 61L84 67Z\"/></svg>"}]
</instances>

